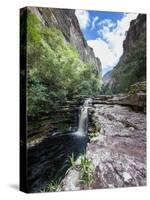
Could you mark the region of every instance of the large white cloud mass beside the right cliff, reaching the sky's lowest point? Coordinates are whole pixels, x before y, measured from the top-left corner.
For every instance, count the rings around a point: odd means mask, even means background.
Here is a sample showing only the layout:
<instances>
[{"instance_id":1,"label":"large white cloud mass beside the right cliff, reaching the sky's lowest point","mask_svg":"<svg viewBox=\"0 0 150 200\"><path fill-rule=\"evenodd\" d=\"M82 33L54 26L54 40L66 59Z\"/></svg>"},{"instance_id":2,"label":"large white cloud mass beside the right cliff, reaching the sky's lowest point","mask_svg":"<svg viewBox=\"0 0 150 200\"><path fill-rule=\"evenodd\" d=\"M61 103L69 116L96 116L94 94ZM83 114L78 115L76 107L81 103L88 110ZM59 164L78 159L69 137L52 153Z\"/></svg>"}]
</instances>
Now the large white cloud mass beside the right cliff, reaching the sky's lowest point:
<instances>
[{"instance_id":1,"label":"large white cloud mass beside the right cliff, reaching the sky's lowest point","mask_svg":"<svg viewBox=\"0 0 150 200\"><path fill-rule=\"evenodd\" d=\"M102 62L102 69L109 71L119 61L123 53L123 41L126 36L126 31L129 29L131 20L135 19L137 14L125 13L121 20L113 22L111 19L100 21L96 40L89 40L97 57Z\"/></svg>"}]
</instances>

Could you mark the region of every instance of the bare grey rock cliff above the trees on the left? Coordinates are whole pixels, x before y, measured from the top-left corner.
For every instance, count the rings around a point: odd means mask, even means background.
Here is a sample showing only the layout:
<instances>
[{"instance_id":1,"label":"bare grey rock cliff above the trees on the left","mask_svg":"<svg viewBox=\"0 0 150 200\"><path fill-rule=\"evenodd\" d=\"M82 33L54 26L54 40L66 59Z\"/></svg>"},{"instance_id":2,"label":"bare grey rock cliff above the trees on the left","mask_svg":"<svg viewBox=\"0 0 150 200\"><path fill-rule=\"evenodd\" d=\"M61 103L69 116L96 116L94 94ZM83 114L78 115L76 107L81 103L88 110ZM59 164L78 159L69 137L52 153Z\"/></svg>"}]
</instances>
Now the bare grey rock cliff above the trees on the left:
<instances>
[{"instance_id":1,"label":"bare grey rock cliff above the trees on the left","mask_svg":"<svg viewBox=\"0 0 150 200\"><path fill-rule=\"evenodd\" d=\"M39 7L29 7L29 9L38 16L43 25L57 27L63 33L66 41L77 49L81 59L93 64L95 72L101 75L101 62L95 57L93 49L84 39L75 10Z\"/></svg>"}]
</instances>

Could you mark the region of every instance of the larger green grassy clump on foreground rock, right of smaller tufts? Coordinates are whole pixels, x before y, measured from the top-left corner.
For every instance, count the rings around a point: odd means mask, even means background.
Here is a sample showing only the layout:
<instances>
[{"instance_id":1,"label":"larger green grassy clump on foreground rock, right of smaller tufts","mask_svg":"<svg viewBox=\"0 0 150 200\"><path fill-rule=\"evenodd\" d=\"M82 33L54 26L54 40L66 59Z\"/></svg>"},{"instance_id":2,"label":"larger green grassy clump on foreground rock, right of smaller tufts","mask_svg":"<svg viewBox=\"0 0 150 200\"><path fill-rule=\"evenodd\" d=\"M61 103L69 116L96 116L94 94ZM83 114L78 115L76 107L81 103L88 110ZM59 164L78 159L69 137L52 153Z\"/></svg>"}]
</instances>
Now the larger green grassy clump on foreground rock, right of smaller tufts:
<instances>
[{"instance_id":1,"label":"larger green grassy clump on foreground rock, right of smaller tufts","mask_svg":"<svg viewBox=\"0 0 150 200\"><path fill-rule=\"evenodd\" d=\"M80 180L81 183L90 187L92 183L92 174L93 174L93 165L91 160L86 156L81 157L81 171L80 171Z\"/></svg>"}]
</instances>

